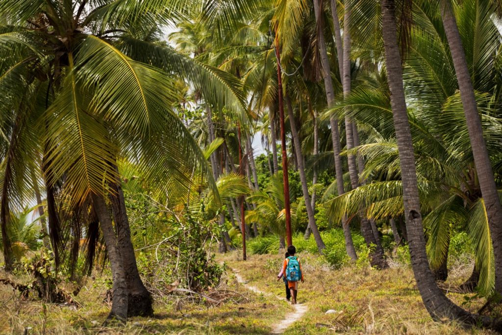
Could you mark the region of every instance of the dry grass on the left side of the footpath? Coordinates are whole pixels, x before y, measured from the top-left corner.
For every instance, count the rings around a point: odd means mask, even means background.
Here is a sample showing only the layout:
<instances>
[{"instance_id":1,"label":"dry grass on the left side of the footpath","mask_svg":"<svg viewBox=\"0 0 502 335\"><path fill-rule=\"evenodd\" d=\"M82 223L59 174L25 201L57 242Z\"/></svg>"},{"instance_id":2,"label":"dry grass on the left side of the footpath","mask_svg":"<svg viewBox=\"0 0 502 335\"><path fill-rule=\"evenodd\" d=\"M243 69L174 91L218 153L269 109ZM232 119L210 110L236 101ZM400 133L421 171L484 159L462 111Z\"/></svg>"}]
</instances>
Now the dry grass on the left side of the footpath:
<instances>
[{"instance_id":1,"label":"dry grass on the left side of the footpath","mask_svg":"<svg viewBox=\"0 0 502 335\"><path fill-rule=\"evenodd\" d=\"M0 277L5 276L0 273ZM198 297L189 301L185 294L171 295L157 299L154 317L132 318L126 327L102 328L100 324L109 311L108 303L103 300L107 290L104 278L87 281L75 298L81 304L78 309L44 305L31 298L23 301L10 286L0 284L0 308L4 311L0 313L0 334L20 334L26 328L30 334L81 334L100 330L111 334L268 334L277 318L284 318L286 312L292 310L286 302L273 296L250 292L229 274L218 290L235 294L218 306L200 302Z\"/></svg>"}]
</instances>

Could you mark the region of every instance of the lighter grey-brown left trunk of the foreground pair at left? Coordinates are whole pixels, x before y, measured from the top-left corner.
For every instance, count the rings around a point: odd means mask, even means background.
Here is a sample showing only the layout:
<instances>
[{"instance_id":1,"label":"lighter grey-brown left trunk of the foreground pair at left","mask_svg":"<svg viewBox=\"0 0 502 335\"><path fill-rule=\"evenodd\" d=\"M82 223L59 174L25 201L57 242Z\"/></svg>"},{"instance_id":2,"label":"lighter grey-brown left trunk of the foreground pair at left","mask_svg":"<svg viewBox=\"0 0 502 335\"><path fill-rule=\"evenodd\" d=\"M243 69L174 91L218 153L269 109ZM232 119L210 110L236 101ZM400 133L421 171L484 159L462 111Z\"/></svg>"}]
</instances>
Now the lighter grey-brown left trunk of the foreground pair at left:
<instances>
[{"instance_id":1,"label":"lighter grey-brown left trunk of the foreground pair at left","mask_svg":"<svg viewBox=\"0 0 502 335\"><path fill-rule=\"evenodd\" d=\"M126 280L126 268L123 265L124 262L118 240L113 230L110 214L103 196L92 194L92 204L103 233L113 282L111 311L106 320L116 319L120 322L126 322L128 316L129 292Z\"/></svg>"}]
</instances>

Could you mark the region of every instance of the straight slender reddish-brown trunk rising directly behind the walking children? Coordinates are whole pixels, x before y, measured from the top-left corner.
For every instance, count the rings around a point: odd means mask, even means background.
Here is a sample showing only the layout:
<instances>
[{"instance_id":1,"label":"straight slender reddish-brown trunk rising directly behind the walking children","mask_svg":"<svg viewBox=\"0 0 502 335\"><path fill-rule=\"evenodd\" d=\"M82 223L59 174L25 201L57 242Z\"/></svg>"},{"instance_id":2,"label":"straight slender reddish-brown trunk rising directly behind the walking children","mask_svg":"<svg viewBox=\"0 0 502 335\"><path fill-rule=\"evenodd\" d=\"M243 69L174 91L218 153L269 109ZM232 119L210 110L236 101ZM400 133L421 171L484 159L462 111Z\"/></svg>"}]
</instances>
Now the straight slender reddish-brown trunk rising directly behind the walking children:
<instances>
[{"instance_id":1,"label":"straight slender reddish-brown trunk rising directly behind the walking children","mask_svg":"<svg viewBox=\"0 0 502 335\"><path fill-rule=\"evenodd\" d=\"M276 58L277 58L277 91L279 98L279 117L281 124L281 148L282 148L282 163L283 163L283 183L284 183L284 211L286 217L286 242L288 246L293 245L293 236L291 235L291 203L289 200L289 178L288 178L288 154L286 152L286 126L284 122L284 104L283 104L283 88L282 88L282 72L281 72L281 52L279 40L276 43Z\"/></svg>"}]
</instances>

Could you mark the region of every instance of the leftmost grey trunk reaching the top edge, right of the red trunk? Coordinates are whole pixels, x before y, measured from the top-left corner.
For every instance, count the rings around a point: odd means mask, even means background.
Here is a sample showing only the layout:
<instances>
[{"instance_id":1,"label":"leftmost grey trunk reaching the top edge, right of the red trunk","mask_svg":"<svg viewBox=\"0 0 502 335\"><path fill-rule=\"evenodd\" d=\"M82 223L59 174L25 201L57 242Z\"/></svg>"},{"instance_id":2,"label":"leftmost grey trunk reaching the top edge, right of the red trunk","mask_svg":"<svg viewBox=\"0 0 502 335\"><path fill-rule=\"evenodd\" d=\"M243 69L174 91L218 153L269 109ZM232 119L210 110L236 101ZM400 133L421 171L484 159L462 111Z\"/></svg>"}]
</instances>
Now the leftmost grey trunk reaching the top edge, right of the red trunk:
<instances>
[{"instance_id":1,"label":"leftmost grey trunk reaching the top edge, right of the red trunk","mask_svg":"<svg viewBox=\"0 0 502 335\"><path fill-rule=\"evenodd\" d=\"M328 102L328 107L333 105L335 99L335 91L333 88L333 82L331 80L331 70L329 66L328 59L328 51L326 49L326 43L324 42L324 34L322 30L322 26L319 21L320 16L320 7L318 0L314 0L314 13L316 22L318 24L318 35L317 35L317 44L319 45L319 51L321 54L321 65L322 65L322 76L324 79L324 88L326 90L326 100ZM338 195L342 195L344 193L343 189L343 170L342 170L342 161L340 158L340 134L338 133L338 120L333 116L329 118L329 124L331 127L331 141L333 143L333 154L335 159L335 174L336 174L336 186ZM343 235L345 237L345 250L347 251L347 255L352 259L357 259L357 254L355 253L354 243L352 241L352 236L350 234L350 228L348 227L347 219L344 217L342 219L342 228Z\"/></svg>"}]
</instances>

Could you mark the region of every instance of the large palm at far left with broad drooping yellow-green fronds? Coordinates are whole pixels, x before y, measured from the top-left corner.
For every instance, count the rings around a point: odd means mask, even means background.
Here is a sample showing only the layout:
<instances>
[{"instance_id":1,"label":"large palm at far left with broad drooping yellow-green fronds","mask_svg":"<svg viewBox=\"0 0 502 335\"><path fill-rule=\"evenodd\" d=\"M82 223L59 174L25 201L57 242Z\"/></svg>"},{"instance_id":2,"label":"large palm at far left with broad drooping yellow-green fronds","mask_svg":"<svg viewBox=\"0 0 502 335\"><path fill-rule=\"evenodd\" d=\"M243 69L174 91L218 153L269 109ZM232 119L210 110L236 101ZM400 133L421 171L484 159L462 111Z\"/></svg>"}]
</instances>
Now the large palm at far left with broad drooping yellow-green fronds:
<instances>
[{"instance_id":1,"label":"large palm at far left with broad drooping yellow-green fronds","mask_svg":"<svg viewBox=\"0 0 502 335\"><path fill-rule=\"evenodd\" d=\"M129 293L142 292L140 300L150 299L134 271L123 197L119 193L110 197L116 231L105 202L109 194L116 194L111 190L120 187L117 157L139 161L148 178L171 190L187 188L187 171L212 180L199 146L172 110L177 75L200 85L214 106L242 110L236 78L159 41L157 23L164 24L179 4L170 3L174 7L168 8L156 1L28 4L9 0L0 5L0 15L8 24L0 35L3 131L10 134L3 143L0 206L6 264L11 263L6 228L10 208L22 202L29 184L24 182L27 171L42 156L56 260L64 244L64 222L55 205L58 193L71 194L73 205L95 212L101 223L116 283L110 318L151 312L149 303L144 310L129 304L128 312ZM35 134L35 129L42 129L42 134ZM89 209L89 204L94 208ZM126 278L129 269L133 273Z\"/></svg>"}]
</instances>

